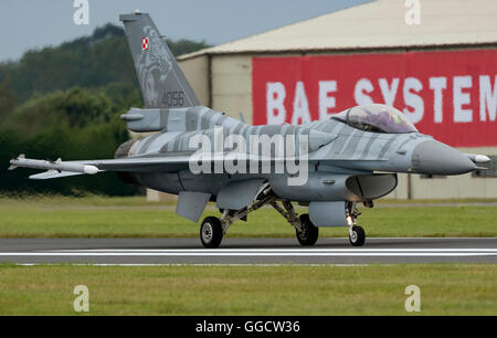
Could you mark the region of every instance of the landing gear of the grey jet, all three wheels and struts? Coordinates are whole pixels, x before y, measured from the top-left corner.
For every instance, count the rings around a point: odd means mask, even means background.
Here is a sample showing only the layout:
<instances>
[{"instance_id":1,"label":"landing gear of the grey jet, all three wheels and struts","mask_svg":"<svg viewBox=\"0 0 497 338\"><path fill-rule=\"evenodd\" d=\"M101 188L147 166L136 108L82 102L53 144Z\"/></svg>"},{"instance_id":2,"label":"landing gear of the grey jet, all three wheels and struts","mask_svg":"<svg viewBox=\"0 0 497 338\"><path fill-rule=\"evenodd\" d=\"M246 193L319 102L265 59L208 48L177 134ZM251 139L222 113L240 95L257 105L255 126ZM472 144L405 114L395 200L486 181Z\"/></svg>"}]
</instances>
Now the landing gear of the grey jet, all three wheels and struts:
<instances>
[{"instance_id":1,"label":"landing gear of the grey jet, all three wheels and struts","mask_svg":"<svg viewBox=\"0 0 497 338\"><path fill-rule=\"evenodd\" d=\"M304 213L300 216L295 212L294 205L289 201L279 201L271 188L265 189L258 199L252 205L240 210L222 210L220 219L208 216L203 219L200 225L200 241L208 249L219 247L224 234L231 224L241 219L246 219L247 214L266 204L271 204L279 214L282 214L288 223L295 228L295 234L298 243L303 246L311 246L316 244L319 237L319 228L315 226L310 221L309 214ZM364 244L364 230L356 224L356 219L360 214L356 209L355 202L348 202L346 208L347 222L349 223L349 240L353 246Z\"/></svg>"}]
</instances>

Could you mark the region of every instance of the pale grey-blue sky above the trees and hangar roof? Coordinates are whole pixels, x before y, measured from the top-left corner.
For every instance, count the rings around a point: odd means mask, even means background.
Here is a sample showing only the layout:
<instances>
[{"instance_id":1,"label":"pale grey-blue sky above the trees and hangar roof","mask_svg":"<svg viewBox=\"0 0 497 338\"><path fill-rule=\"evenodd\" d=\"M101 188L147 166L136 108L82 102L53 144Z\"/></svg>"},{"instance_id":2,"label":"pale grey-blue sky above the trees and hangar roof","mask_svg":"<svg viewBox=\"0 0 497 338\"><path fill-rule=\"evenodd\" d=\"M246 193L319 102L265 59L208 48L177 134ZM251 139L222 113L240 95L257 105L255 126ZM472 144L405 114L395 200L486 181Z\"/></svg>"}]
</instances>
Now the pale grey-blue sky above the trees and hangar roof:
<instances>
[{"instance_id":1,"label":"pale grey-blue sky above the trees and hangar roof","mask_svg":"<svg viewBox=\"0 0 497 338\"><path fill-rule=\"evenodd\" d=\"M148 12L162 35L221 44L370 0L85 0L88 24L74 23L81 0L2 0L0 62L27 50L89 35L120 13Z\"/></svg>"}]
</instances>

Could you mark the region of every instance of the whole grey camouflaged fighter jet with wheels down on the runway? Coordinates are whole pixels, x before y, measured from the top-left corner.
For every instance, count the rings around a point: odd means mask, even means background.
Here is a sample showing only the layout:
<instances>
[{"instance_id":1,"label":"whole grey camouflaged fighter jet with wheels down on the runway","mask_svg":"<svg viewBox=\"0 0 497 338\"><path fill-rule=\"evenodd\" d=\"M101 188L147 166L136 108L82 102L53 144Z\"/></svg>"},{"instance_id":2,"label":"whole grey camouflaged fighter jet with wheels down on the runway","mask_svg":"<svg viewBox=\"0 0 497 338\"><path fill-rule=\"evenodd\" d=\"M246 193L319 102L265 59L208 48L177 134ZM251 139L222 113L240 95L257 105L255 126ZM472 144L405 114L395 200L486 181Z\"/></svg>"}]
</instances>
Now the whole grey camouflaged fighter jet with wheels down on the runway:
<instances>
[{"instance_id":1,"label":"whole grey camouflaged fighter jet with wheels down on the runway","mask_svg":"<svg viewBox=\"0 0 497 338\"><path fill-rule=\"evenodd\" d=\"M327 120L299 126L250 126L200 104L166 41L146 13L120 15L129 41L145 108L121 115L131 139L114 159L10 161L44 169L31 179L115 171L128 183L178 194L176 212L198 222L209 201L221 218L200 226L205 247L218 247L229 226L266 204L313 245L320 226L348 226L355 246L366 234L357 224L358 203L398 184L398 173L462 175L489 159L462 154L421 134L405 115L384 105L357 106ZM298 215L293 203L308 207Z\"/></svg>"}]
</instances>

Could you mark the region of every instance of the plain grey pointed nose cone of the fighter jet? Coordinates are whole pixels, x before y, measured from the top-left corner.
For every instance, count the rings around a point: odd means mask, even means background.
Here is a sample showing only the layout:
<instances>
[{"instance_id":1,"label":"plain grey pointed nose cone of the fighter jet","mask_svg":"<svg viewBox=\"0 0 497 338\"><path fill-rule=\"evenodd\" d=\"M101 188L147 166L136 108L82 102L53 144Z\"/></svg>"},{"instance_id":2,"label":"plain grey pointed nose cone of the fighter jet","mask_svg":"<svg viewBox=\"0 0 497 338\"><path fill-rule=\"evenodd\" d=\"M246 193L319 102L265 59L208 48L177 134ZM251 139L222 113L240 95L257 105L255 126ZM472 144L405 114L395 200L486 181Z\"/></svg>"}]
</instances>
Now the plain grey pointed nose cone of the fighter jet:
<instances>
[{"instance_id":1,"label":"plain grey pointed nose cone of the fighter jet","mask_svg":"<svg viewBox=\"0 0 497 338\"><path fill-rule=\"evenodd\" d=\"M456 149L427 140L414 148L412 168L427 175L461 175L475 170L476 166Z\"/></svg>"}]
</instances>

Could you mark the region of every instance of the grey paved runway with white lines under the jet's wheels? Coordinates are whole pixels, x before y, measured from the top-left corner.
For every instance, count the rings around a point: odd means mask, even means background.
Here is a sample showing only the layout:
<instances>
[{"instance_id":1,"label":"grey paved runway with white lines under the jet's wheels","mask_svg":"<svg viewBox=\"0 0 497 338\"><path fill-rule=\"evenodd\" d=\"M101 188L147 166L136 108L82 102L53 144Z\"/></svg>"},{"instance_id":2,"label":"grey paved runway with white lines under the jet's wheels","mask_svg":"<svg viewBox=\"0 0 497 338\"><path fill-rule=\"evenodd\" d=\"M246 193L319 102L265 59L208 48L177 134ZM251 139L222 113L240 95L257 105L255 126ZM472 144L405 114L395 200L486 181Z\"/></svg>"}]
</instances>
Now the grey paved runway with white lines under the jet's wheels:
<instances>
[{"instance_id":1,"label":"grey paved runway with white lines under the jet's wheels","mask_svg":"<svg viewBox=\"0 0 497 338\"><path fill-rule=\"evenodd\" d=\"M302 247L292 239L224 239L205 250L198 239L3 239L0 262L83 264L369 264L497 263L497 237L319 239Z\"/></svg>"}]
</instances>

